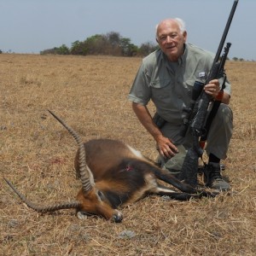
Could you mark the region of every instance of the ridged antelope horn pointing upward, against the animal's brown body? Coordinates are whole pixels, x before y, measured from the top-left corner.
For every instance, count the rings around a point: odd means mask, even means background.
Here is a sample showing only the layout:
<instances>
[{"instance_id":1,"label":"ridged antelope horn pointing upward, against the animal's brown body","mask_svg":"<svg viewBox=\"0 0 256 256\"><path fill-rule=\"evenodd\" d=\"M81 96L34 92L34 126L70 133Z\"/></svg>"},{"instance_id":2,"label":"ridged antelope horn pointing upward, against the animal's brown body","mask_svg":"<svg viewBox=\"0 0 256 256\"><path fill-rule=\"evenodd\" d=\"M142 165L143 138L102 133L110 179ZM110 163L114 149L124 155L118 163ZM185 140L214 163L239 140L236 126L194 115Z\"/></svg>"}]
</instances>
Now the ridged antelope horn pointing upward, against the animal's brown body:
<instances>
[{"instance_id":1,"label":"ridged antelope horn pointing upward, against the animal's brown body","mask_svg":"<svg viewBox=\"0 0 256 256\"><path fill-rule=\"evenodd\" d=\"M86 165L86 154L85 154L85 148L84 148L84 143L82 142L81 138L79 137L79 134L71 127L69 127L61 118L57 117L55 113L51 112L48 110L49 113L52 114L52 116L57 119L61 125L63 125L67 131L73 136L75 139L76 143L79 145L79 171L80 171L80 176L81 176L81 183L83 186L83 192L86 193L90 191L95 183L94 183L94 177L93 174L90 172L90 169Z\"/></svg>"}]
</instances>

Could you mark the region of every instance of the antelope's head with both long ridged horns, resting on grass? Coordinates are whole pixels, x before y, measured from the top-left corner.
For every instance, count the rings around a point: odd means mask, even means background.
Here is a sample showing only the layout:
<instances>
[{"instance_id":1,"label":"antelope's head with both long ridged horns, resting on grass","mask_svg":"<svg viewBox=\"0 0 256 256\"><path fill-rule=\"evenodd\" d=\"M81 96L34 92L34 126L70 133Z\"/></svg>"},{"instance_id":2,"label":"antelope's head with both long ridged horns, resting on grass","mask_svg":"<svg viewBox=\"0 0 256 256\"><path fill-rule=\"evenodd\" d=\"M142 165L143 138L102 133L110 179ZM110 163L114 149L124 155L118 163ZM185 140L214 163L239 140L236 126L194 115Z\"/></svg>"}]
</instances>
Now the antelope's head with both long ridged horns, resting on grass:
<instances>
[{"instance_id":1,"label":"antelope's head with both long ridged horns, resting on grass","mask_svg":"<svg viewBox=\"0 0 256 256\"><path fill-rule=\"evenodd\" d=\"M20 191L15 189L15 186L10 183L8 179L4 178L4 180L9 184L11 189L15 191L15 194L18 195L20 199L26 203L26 206L32 208L34 211L54 212L61 209L75 208L77 210L77 217L80 219L85 218L86 214L92 214L102 216L106 219L111 219L114 222L121 222L123 219L121 212L111 207L107 197L105 197L102 191L96 188L93 174L86 164L85 148L81 138L62 119L57 117L55 113L52 113L51 111L49 111L49 113L51 113L55 119L57 119L61 125L63 125L67 131L70 132L76 143L79 145L79 174L82 188L79 190L77 200L55 204L53 206L38 206L28 201L26 197L20 193Z\"/></svg>"}]
</instances>

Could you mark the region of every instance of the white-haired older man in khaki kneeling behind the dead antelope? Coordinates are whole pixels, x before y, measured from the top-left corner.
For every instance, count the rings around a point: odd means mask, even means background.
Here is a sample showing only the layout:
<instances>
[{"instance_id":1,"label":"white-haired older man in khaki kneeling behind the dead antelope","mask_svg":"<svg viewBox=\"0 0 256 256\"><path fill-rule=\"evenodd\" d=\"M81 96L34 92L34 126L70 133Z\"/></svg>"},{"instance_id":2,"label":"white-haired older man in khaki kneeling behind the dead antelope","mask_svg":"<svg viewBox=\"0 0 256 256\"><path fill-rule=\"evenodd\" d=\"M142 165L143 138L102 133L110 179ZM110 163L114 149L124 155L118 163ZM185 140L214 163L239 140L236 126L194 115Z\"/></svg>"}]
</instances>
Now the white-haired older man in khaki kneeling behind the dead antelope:
<instances>
[{"instance_id":1,"label":"white-haired older man in khaki kneeling behind the dead antelope","mask_svg":"<svg viewBox=\"0 0 256 256\"><path fill-rule=\"evenodd\" d=\"M181 170L187 149L192 144L189 133L186 137L180 136L183 107L189 106L195 81L206 81L214 55L186 43L185 25L178 18L162 20L156 27L156 40L160 49L143 59L128 98L137 118L154 137L162 168L175 174ZM210 81L204 86L205 92L217 97L222 81ZM154 102L156 113L164 120L161 127L154 123L148 111L149 100ZM219 165L220 160L226 158L233 128L229 102L230 84L226 82L222 103L207 137L206 185L212 189L230 189L230 184L220 174Z\"/></svg>"}]
</instances>

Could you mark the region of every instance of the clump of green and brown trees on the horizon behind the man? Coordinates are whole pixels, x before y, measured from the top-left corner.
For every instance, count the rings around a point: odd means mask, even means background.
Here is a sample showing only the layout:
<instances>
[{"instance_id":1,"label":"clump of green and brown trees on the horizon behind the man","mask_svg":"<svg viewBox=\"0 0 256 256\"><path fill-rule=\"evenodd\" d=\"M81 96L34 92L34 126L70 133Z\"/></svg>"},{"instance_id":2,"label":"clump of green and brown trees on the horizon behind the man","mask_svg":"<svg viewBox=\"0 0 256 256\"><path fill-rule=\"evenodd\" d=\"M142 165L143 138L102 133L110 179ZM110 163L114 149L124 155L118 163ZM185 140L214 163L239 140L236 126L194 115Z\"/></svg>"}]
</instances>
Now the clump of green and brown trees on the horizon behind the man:
<instances>
[{"instance_id":1,"label":"clump of green and brown trees on the horizon behind the man","mask_svg":"<svg viewBox=\"0 0 256 256\"><path fill-rule=\"evenodd\" d=\"M52 49L40 51L41 55L115 55L115 56L137 56L148 55L158 49L158 45L147 42L138 47L131 43L130 38L123 38L119 32L108 32L107 34L96 34L84 41L75 41L68 48L66 44Z\"/></svg>"}]
</instances>

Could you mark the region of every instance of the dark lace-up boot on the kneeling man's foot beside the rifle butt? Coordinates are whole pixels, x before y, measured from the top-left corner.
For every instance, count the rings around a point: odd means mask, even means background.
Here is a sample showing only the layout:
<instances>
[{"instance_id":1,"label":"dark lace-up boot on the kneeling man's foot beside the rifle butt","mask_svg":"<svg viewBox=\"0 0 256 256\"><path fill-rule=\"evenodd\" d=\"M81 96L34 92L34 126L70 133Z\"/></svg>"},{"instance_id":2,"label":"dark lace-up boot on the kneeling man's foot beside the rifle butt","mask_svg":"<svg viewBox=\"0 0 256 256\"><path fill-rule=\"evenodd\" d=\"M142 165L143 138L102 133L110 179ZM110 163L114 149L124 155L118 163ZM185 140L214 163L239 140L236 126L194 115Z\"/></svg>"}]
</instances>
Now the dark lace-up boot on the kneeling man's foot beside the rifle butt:
<instances>
[{"instance_id":1,"label":"dark lace-up boot on the kneeling man's foot beside the rifle butt","mask_svg":"<svg viewBox=\"0 0 256 256\"><path fill-rule=\"evenodd\" d=\"M204 182L207 187L211 189L218 189L220 191L226 191L230 189L230 184L224 181L220 174L219 163L209 162L208 165L204 167Z\"/></svg>"}]
</instances>

